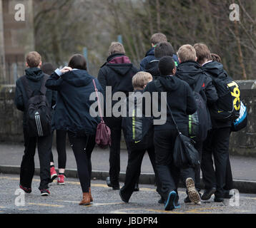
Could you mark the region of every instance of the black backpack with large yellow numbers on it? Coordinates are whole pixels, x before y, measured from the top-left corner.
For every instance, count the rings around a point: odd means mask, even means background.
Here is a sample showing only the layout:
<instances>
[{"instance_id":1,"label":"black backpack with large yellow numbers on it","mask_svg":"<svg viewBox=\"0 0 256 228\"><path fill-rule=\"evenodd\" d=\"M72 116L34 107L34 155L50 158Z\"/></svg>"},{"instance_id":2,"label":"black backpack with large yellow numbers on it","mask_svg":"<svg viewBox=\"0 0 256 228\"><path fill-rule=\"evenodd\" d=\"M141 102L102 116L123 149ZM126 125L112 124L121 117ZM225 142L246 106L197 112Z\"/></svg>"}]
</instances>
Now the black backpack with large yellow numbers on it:
<instances>
[{"instance_id":1,"label":"black backpack with large yellow numbers on it","mask_svg":"<svg viewBox=\"0 0 256 228\"><path fill-rule=\"evenodd\" d=\"M239 86L226 73L211 78L218 95L217 102L210 108L212 118L222 122L236 120L240 116Z\"/></svg>"}]
</instances>

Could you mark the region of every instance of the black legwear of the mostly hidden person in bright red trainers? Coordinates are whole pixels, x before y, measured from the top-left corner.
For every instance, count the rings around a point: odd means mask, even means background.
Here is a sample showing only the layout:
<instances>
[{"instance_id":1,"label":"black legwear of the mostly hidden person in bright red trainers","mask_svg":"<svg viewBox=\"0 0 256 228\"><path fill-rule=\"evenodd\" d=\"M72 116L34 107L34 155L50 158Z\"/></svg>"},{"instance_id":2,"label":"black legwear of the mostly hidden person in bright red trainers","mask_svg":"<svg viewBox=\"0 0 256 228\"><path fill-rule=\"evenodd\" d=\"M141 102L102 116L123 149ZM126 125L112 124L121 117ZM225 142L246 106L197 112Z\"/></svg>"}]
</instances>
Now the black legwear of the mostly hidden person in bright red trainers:
<instances>
[{"instance_id":1,"label":"black legwear of the mostly hidden person in bright red trainers","mask_svg":"<svg viewBox=\"0 0 256 228\"><path fill-rule=\"evenodd\" d=\"M54 134L52 134L54 135ZM66 152L66 137L67 132L64 130L56 130L56 149L58 152L58 167L59 169L65 169L67 163ZM54 156L51 152L50 162L54 162Z\"/></svg>"}]
</instances>

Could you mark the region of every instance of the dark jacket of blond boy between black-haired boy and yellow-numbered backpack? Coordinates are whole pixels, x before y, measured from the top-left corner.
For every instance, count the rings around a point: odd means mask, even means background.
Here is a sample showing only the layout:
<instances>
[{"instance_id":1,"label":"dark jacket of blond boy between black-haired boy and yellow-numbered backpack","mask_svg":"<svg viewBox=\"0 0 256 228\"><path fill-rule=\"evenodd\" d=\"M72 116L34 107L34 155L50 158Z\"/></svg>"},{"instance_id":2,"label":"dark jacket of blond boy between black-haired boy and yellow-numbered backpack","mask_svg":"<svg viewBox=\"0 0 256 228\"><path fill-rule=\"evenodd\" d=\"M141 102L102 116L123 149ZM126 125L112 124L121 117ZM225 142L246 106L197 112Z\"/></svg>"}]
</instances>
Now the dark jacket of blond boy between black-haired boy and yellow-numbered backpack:
<instances>
[{"instance_id":1,"label":"dark jacket of blond boy between black-haired boy and yellow-numbered backpack","mask_svg":"<svg viewBox=\"0 0 256 228\"><path fill-rule=\"evenodd\" d=\"M217 101L218 95L215 86L212 84L212 79L202 71L199 63L194 61L180 63L175 76L187 82L192 90L195 90L195 86L197 86L199 78L203 77L202 89L200 90L202 98L208 103L208 105Z\"/></svg>"}]
</instances>

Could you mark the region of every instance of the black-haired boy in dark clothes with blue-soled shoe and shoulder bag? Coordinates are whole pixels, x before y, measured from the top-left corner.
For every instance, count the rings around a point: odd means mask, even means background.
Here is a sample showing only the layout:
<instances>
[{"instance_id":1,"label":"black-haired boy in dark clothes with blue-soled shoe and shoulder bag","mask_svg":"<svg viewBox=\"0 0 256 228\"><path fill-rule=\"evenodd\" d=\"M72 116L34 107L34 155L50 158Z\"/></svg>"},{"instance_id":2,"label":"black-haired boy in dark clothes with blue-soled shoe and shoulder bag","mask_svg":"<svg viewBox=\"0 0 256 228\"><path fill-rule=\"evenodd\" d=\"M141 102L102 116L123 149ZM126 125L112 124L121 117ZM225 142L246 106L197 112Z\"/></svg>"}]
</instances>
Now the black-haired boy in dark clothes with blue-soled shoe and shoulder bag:
<instances>
[{"instance_id":1,"label":"black-haired boy in dark clothes with blue-soled shoe and shoulder bag","mask_svg":"<svg viewBox=\"0 0 256 228\"><path fill-rule=\"evenodd\" d=\"M165 56L160 59L159 71L161 76L156 81L149 83L145 88L145 92L148 91L152 95L152 105L154 105L152 106L152 110L158 110L162 115L165 114L167 117L166 122L162 123L162 125L154 125L154 147L157 177L159 178L159 187L161 187L160 194L164 198L164 209L172 210L179 208L177 187L179 184L180 170L173 162L174 142L178 133L172 121L170 110L161 110L161 106L162 103L167 102L172 109L172 114L179 130L184 135L188 135L188 115L195 113L197 105L189 85L179 78L174 77L176 67L171 56ZM154 92L158 92L157 99L154 99ZM167 95L166 98L162 98L164 94ZM158 119L154 115L153 118L154 120ZM190 178L189 182L191 180ZM192 183L194 184L194 182ZM193 199L200 201L195 186L191 190Z\"/></svg>"}]
</instances>

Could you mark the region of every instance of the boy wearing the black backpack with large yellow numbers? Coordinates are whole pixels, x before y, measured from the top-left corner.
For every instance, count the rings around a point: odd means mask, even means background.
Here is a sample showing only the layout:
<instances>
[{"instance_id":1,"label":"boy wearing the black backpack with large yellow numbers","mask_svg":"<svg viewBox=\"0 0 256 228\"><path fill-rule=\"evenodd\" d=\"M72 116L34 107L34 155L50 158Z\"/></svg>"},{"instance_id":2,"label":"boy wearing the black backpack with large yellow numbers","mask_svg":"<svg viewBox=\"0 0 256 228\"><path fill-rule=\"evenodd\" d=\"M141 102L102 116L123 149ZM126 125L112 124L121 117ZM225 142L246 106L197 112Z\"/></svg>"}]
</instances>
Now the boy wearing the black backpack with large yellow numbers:
<instances>
[{"instance_id":1,"label":"boy wearing the black backpack with large yellow numbers","mask_svg":"<svg viewBox=\"0 0 256 228\"><path fill-rule=\"evenodd\" d=\"M227 76L222 63L212 61L209 48L204 43L196 43L197 62L202 70L212 78ZM215 194L215 202L222 202L225 197L225 177L229 158L231 121L221 122L212 118L212 130L205 140L202 152L202 178L205 183L203 200L210 199ZM213 167L212 155L215 160Z\"/></svg>"}]
</instances>

